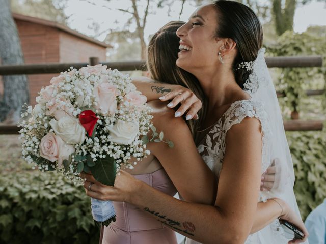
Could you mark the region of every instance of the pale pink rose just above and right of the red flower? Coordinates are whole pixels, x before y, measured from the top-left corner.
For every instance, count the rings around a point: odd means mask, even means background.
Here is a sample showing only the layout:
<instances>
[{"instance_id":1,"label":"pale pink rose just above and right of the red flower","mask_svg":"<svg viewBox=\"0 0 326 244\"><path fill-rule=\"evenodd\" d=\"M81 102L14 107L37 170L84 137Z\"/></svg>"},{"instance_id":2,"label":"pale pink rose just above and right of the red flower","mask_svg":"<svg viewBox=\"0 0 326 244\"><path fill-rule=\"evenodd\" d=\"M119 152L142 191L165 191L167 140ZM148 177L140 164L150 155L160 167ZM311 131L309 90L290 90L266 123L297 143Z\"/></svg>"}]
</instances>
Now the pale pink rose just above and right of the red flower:
<instances>
[{"instance_id":1,"label":"pale pink rose just above and right of the red flower","mask_svg":"<svg viewBox=\"0 0 326 244\"><path fill-rule=\"evenodd\" d=\"M121 94L120 90L112 84L103 82L94 86L93 94L97 102L97 105L94 106L95 109L100 110L104 116L115 113L117 110L116 97Z\"/></svg>"}]
</instances>

